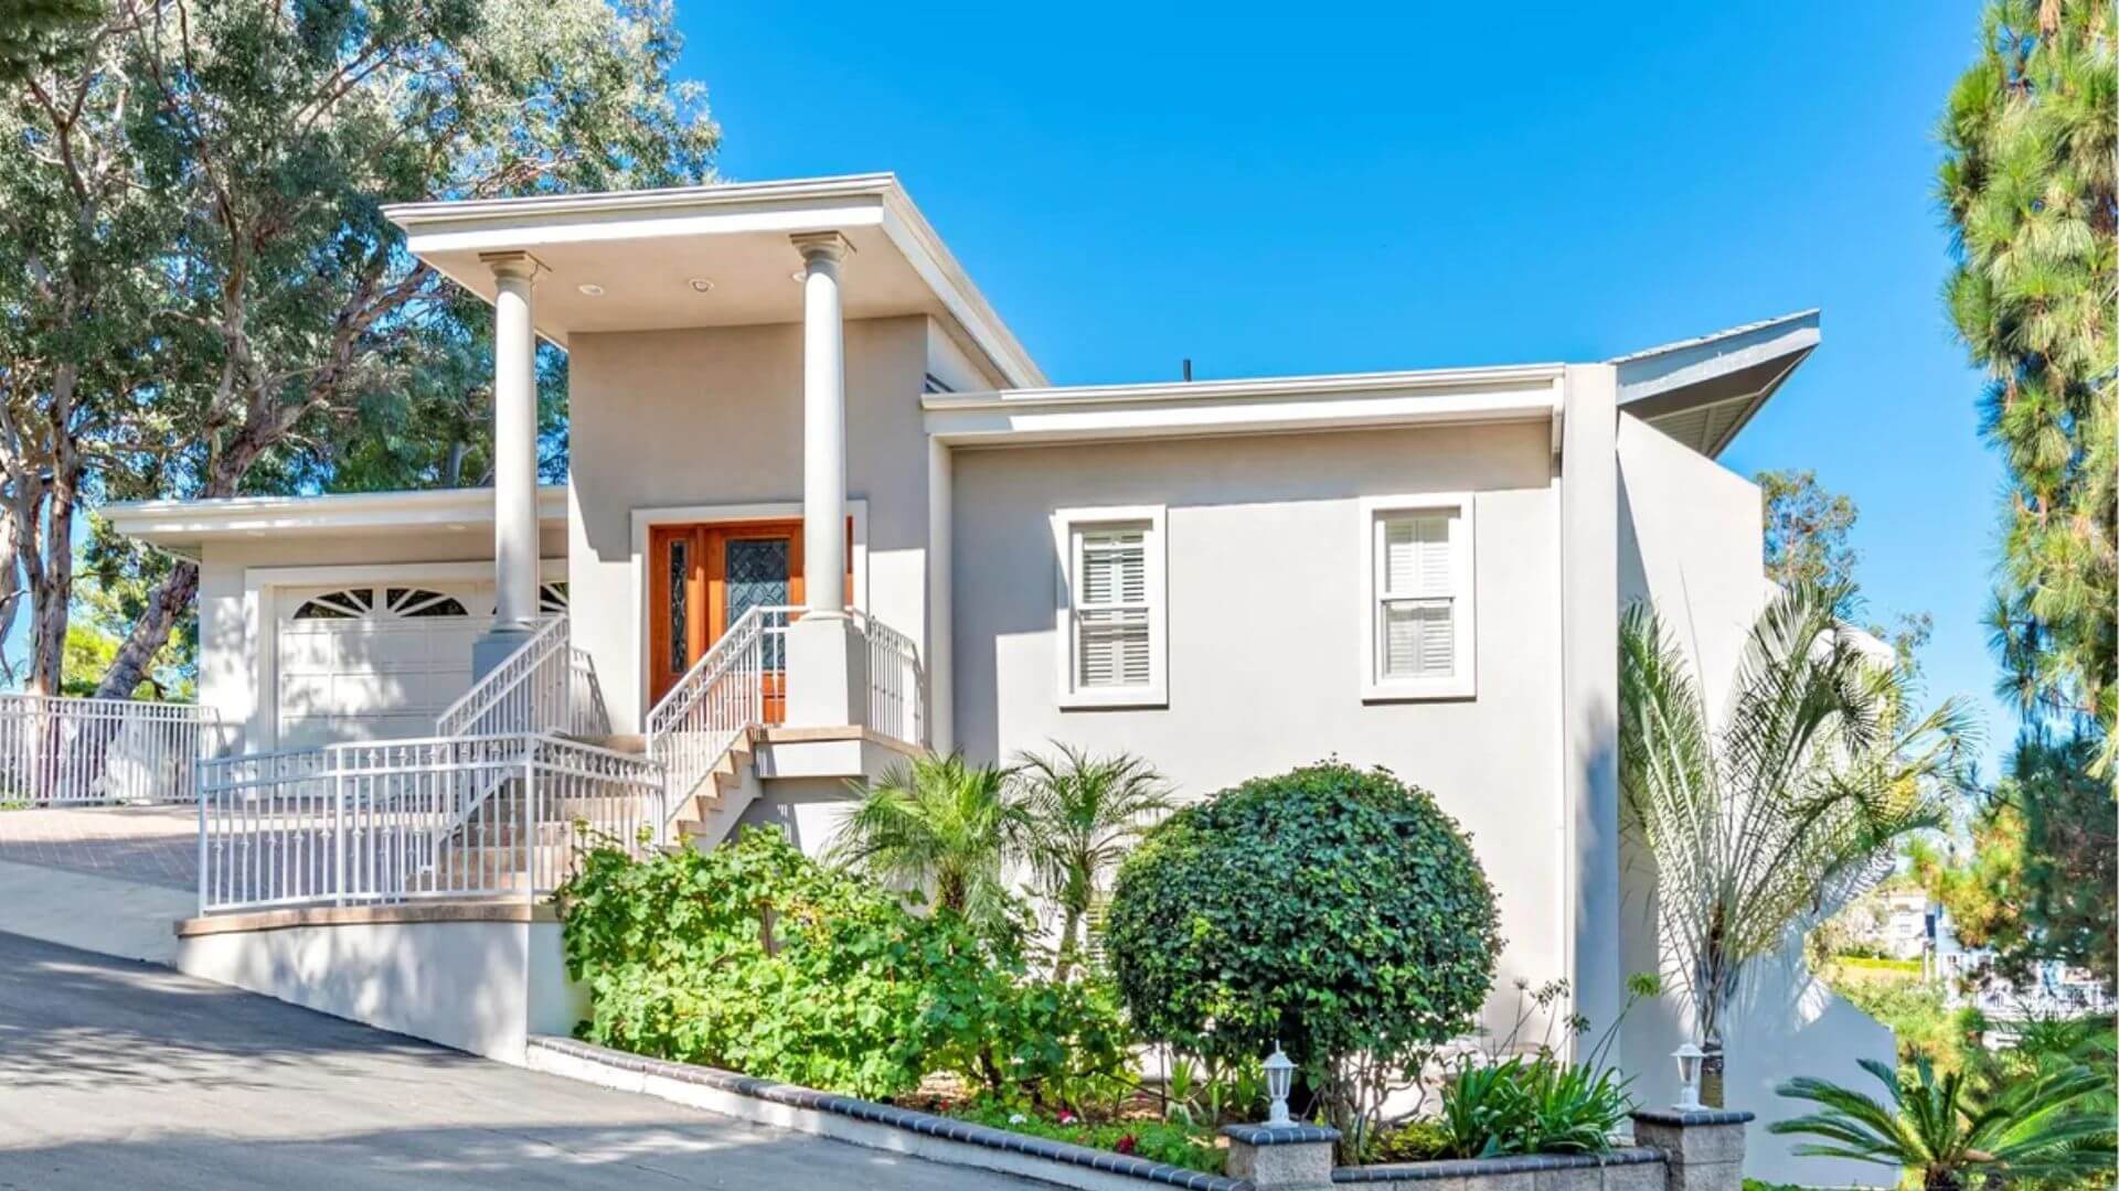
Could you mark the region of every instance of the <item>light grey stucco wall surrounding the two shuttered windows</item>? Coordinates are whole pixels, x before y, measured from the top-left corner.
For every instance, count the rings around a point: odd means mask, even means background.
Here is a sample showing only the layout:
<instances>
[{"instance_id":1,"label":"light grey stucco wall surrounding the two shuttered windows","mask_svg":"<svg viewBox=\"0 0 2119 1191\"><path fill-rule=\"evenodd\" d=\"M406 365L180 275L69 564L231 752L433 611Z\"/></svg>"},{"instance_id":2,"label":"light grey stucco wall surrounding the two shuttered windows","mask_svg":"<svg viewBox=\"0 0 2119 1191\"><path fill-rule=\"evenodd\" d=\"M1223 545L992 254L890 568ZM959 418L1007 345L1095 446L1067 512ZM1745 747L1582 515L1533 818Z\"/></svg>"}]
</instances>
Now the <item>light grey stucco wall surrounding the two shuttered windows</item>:
<instances>
[{"instance_id":1,"label":"light grey stucco wall surrounding the two shuttered windows","mask_svg":"<svg viewBox=\"0 0 2119 1191\"><path fill-rule=\"evenodd\" d=\"M1153 761L1187 797L1339 757L1430 788L1509 939L1498 988L1562 971L1557 519L1543 424L954 451L956 742ZM1365 704L1360 498L1475 494L1477 697ZM1165 504L1170 706L1060 710L1066 506ZM1513 1002L1513 994L1509 996Z\"/></svg>"}]
</instances>

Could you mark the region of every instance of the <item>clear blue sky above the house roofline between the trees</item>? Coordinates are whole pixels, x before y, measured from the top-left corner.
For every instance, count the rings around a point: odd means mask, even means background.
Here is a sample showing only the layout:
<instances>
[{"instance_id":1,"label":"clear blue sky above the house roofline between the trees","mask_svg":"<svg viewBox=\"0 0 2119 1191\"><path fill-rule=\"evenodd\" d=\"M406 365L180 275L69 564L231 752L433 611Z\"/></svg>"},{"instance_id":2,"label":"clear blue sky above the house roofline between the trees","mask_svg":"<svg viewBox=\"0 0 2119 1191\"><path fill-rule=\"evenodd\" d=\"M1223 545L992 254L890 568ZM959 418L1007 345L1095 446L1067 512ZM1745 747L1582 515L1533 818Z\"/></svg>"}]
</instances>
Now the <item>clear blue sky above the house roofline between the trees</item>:
<instances>
[{"instance_id":1,"label":"clear blue sky above the house roofline between the trees","mask_svg":"<svg viewBox=\"0 0 2119 1191\"><path fill-rule=\"evenodd\" d=\"M1871 615L2013 735L2000 464L1939 303L1977 4L680 4L731 178L896 172L1055 384L1600 360L1803 307L1723 462L1860 504ZM1990 761L1992 769L1992 761Z\"/></svg>"}]
</instances>

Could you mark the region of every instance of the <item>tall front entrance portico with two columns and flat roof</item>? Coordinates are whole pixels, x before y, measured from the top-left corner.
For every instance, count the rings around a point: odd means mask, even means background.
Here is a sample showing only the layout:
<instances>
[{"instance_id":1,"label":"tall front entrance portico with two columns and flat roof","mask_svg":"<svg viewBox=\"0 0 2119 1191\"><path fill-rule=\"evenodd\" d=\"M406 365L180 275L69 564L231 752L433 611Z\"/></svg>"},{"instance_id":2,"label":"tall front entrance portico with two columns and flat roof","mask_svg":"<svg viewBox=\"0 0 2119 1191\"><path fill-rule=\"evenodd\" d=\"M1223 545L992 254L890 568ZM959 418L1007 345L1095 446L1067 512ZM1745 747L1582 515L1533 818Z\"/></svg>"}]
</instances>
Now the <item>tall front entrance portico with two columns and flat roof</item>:
<instances>
[{"instance_id":1,"label":"tall front entrance portico with two columns and flat roof","mask_svg":"<svg viewBox=\"0 0 2119 1191\"><path fill-rule=\"evenodd\" d=\"M733 627L714 615L701 634L699 593L672 587L674 559L657 553L657 526L682 511L799 517L786 589L805 612L769 659L784 668L788 727L871 727L873 623L922 659L945 655L949 568L930 530L947 506L932 500L920 394L1043 377L894 178L426 203L390 218L422 261L494 303L502 460L519 441L534 449L536 339L570 354L572 638L595 659L615 731L644 731L674 655L697 665ZM519 470L494 477L496 591L538 566L513 547L509 509L534 479ZM521 634L502 610L479 670Z\"/></svg>"}]
</instances>

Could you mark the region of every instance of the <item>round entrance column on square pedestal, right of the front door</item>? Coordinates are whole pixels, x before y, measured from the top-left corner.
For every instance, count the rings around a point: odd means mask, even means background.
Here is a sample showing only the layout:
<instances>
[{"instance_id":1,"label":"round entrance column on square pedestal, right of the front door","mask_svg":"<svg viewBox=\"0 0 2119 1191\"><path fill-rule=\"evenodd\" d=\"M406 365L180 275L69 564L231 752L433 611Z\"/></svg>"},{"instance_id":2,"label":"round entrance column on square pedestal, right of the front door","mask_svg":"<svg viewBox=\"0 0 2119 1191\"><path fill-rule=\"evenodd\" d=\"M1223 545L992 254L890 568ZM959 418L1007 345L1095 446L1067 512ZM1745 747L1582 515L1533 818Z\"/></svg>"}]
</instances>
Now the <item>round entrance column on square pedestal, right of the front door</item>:
<instances>
[{"instance_id":1,"label":"round entrance column on square pedestal, right of the front door","mask_svg":"<svg viewBox=\"0 0 2119 1191\"><path fill-rule=\"evenodd\" d=\"M845 617L845 326L837 231L793 237L803 259L801 553L803 602L788 625L788 727L867 723L867 640Z\"/></svg>"}]
</instances>

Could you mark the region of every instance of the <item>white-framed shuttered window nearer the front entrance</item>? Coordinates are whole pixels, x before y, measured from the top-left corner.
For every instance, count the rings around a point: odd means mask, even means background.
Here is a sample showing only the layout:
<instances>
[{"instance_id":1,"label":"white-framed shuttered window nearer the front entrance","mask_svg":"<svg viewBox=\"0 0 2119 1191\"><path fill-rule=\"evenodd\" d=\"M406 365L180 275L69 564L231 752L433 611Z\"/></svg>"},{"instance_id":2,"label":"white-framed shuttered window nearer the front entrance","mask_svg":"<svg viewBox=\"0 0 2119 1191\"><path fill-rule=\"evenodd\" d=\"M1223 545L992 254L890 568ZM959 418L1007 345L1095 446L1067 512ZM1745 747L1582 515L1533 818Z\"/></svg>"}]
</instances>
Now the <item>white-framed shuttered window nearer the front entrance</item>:
<instances>
[{"instance_id":1,"label":"white-framed shuttered window nearer the front entrance","mask_svg":"<svg viewBox=\"0 0 2119 1191\"><path fill-rule=\"evenodd\" d=\"M1062 509L1060 706L1165 706L1163 509Z\"/></svg>"}]
</instances>

